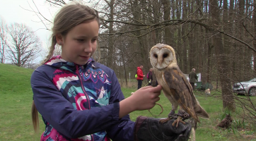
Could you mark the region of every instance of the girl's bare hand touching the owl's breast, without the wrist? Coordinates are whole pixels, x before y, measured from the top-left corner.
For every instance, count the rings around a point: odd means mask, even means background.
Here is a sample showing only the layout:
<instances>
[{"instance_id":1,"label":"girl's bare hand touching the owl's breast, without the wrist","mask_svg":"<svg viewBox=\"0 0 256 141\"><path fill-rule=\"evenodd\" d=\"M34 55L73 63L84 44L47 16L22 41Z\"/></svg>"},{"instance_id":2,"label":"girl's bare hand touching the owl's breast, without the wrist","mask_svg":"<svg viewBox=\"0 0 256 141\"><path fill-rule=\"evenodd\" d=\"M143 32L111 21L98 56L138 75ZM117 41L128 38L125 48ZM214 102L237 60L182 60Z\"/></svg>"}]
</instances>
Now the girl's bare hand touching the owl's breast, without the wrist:
<instances>
[{"instance_id":1,"label":"girl's bare hand touching the owl's breast, without the wrist","mask_svg":"<svg viewBox=\"0 0 256 141\"><path fill-rule=\"evenodd\" d=\"M153 108L156 102L160 100L158 96L161 94L161 90L161 85L157 87L146 86L136 90L132 96L128 97L132 102L131 106L134 107L134 111Z\"/></svg>"}]
</instances>

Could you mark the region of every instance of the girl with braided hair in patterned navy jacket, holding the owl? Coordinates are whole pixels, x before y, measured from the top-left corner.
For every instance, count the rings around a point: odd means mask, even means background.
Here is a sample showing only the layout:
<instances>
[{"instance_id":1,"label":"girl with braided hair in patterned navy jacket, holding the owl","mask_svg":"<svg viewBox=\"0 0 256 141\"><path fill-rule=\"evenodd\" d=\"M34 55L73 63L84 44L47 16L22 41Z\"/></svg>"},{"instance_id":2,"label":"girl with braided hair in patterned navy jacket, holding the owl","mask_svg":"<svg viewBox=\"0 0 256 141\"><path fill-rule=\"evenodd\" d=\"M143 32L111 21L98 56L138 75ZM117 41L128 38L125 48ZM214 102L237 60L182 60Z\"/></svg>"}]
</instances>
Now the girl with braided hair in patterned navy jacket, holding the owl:
<instances>
[{"instance_id":1,"label":"girl with braided hair in patterned navy jacket, holding the owl","mask_svg":"<svg viewBox=\"0 0 256 141\"><path fill-rule=\"evenodd\" d=\"M98 13L81 4L62 7L54 18L50 54L31 76L35 130L37 110L45 123L41 140L175 140L181 133L187 139L189 124L180 124L177 131L170 125L173 121L159 125L155 118L130 120L130 112L156 104L161 86L142 87L124 99L114 71L91 58L98 19ZM52 56L56 44L62 46L61 56Z\"/></svg>"}]
</instances>

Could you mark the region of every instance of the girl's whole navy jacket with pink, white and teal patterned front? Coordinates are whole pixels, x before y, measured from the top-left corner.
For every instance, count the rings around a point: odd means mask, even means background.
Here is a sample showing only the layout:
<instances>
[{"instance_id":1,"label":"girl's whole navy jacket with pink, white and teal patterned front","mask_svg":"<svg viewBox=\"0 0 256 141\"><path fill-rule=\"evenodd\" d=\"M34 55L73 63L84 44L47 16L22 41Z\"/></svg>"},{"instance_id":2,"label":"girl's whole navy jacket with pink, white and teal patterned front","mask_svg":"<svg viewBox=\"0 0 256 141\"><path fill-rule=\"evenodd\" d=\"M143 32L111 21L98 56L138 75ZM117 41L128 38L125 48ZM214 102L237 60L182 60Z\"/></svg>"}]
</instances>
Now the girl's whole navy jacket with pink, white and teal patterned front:
<instances>
[{"instance_id":1,"label":"girl's whole navy jacket with pink, white and teal patterned front","mask_svg":"<svg viewBox=\"0 0 256 141\"><path fill-rule=\"evenodd\" d=\"M93 59L78 66L54 56L33 72L31 86L45 123L41 140L134 140L134 122L119 119L124 95L114 71Z\"/></svg>"}]
</instances>

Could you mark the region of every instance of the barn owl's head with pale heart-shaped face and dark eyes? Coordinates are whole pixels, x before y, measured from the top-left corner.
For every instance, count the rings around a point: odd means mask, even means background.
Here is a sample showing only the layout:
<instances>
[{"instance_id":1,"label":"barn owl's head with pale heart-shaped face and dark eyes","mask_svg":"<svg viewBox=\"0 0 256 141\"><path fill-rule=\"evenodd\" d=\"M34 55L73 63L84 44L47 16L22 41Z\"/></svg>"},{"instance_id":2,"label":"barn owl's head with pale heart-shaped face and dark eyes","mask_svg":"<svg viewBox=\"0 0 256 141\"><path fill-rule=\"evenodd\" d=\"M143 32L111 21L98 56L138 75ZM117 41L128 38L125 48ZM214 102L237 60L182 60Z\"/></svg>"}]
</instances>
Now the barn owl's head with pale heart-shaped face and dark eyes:
<instances>
[{"instance_id":1,"label":"barn owl's head with pale heart-shaped face and dark eyes","mask_svg":"<svg viewBox=\"0 0 256 141\"><path fill-rule=\"evenodd\" d=\"M177 63L174 49L166 44L156 44L150 51L151 65L158 70L163 70L170 63Z\"/></svg>"}]
</instances>

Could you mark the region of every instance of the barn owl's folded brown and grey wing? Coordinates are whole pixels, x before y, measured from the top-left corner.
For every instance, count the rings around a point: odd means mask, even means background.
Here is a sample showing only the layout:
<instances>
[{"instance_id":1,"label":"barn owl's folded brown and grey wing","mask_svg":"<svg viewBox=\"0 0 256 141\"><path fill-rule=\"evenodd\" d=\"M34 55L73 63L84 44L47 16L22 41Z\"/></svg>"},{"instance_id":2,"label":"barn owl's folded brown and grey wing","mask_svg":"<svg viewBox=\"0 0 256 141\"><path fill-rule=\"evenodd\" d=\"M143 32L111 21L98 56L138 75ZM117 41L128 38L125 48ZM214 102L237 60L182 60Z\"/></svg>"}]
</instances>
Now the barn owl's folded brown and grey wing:
<instances>
[{"instance_id":1,"label":"barn owl's folded brown and grey wing","mask_svg":"<svg viewBox=\"0 0 256 141\"><path fill-rule=\"evenodd\" d=\"M166 69L162 75L163 81L168 85L173 99L186 111L195 121L199 118L194 111L194 95L192 87L179 68Z\"/></svg>"}]
</instances>

